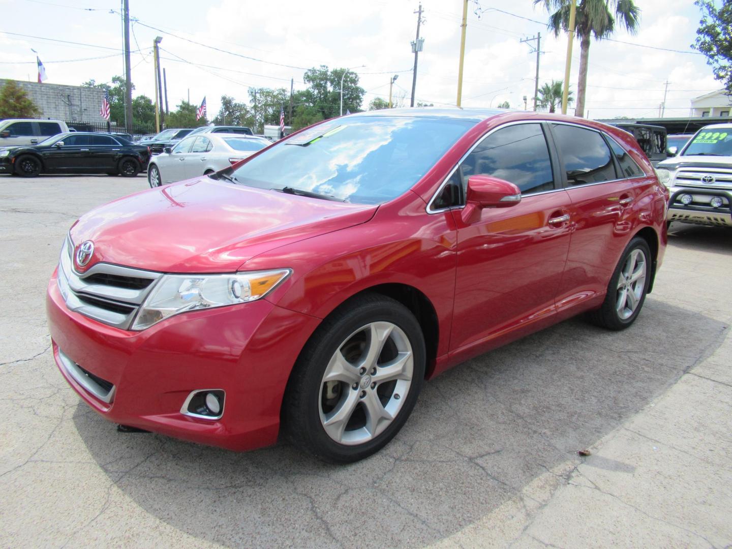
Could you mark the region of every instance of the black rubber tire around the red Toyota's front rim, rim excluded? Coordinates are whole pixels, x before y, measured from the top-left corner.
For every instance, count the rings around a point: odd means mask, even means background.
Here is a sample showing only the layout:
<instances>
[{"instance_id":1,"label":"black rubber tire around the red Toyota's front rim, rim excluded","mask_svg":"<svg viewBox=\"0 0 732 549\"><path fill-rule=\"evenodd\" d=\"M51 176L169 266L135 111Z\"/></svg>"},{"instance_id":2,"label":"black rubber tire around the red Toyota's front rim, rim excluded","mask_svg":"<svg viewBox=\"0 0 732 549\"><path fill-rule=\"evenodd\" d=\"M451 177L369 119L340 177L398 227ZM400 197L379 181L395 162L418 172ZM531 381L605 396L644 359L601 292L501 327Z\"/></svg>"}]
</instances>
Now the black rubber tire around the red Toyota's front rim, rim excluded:
<instances>
[{"instance_id":1,"label":"black rubber tire around the red Toyota's front rim, rim excluded","mask_svg":"<svg viewBox=\"0 0 732 549\"><path fill-rule=\"evenodd\" d=\"M414 358L411 385L396 416L380 434L362 444L340 444L326 433L321 422L324 373L329 360L349 335L378 321L395 324L406 335ZM419 322L402 304L380 294L363 294L348 300L318 326L296 362L283 400L283 432L296 447L330 463L367 458L394 438L411 414L425 378L425 357L425 338ZM391 398L394 397L399 399L400 395L392 394Z\"/></svg>"}]
</instances>

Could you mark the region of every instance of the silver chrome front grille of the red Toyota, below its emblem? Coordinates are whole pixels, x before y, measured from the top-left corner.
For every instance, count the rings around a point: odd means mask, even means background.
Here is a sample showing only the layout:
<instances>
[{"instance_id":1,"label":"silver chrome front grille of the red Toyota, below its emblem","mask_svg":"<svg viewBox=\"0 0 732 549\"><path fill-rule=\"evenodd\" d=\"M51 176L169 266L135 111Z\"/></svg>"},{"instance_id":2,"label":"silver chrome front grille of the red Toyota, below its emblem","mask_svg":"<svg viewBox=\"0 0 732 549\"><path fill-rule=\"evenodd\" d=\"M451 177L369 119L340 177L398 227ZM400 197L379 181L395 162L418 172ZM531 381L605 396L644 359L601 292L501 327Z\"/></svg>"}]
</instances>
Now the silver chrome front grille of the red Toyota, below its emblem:
<instances>
[{"instance_id":1,"label":"silver chrome front grille of the red Toyota, below its emblem","mask_svg":"<svg viewBox=\"0 0 732 549\"><path fill-rule=\"evenodd\" d=\"M59 261L59 289L66 306L104 324L130 329L161 273L98 263L80 275L73 267L73 250L67 238Z\"/></svg>"}]
</instances>

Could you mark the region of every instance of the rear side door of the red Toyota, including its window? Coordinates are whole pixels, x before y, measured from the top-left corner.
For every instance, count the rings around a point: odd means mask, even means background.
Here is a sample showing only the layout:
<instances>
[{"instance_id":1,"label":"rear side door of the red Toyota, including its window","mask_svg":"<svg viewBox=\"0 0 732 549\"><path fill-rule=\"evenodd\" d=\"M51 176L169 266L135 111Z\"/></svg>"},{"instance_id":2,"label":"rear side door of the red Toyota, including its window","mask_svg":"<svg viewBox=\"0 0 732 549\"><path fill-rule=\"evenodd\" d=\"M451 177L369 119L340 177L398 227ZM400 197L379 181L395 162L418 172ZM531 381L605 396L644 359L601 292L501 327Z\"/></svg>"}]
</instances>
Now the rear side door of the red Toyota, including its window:
<instances>
[{"instance_id":1,"label":"rear side door of the red Toyota, including its window","mask_svg":"<svg viewBox=\"0 0 732 549\"><path fill-rule=\"evenodd\" d=\"M642 182L645 174L630 155L621 160L630 160L635 168L616 164L606 137L598 130L559 122L550 129L571 201L572 244L557 294L557 307L565 310L607 289L630 239L632 204L640 190L632 182ZM623 171L629 170L637 170L641 179L625 179Z\"/></svg>"}]
</instances>

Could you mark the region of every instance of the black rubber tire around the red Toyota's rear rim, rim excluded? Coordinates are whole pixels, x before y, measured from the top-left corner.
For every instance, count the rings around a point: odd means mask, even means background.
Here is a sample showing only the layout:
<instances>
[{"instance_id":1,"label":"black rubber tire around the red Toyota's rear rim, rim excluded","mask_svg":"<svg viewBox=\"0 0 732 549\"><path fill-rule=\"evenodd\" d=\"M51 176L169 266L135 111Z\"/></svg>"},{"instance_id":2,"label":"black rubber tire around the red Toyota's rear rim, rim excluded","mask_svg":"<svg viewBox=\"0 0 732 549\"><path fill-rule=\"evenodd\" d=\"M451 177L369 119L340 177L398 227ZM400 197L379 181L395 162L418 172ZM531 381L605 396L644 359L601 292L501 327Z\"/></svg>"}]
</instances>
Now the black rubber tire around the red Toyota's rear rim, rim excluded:
<instances>
[{"instance_id":1,"label":"black rubber tire around the red Toyota's rear rim, rim excluded","mask_svg":"<svg viewBox=\"0 0 732 549\"><path fill-rule=\"evenodd\" d=\"M646 277L643 280L641 296L638 298L638 303L635 305L635 309L632 313L623 318L618 311L619 296L622 288L619 288L620 277L624 267L628 261L628 258L635 253L635 250L640 250L643 253L643 259L646 266ZM635 322L638 318L638 313L641 313L643 303L646 301L646 294L648 294L648 288L651 284L651 250L648 246L648 242L640 236L635 236L625 247L623 255L621 255L620 261L613 272L613 276L610 277L610 283L608 284L608 293L605 295L605 301L602 303L602 307L597 310L589 311L586 318L592 324L601 326L611 330L622 330ZM640 288L639 288L640 289Z\"/></svg>"}]
</instances>

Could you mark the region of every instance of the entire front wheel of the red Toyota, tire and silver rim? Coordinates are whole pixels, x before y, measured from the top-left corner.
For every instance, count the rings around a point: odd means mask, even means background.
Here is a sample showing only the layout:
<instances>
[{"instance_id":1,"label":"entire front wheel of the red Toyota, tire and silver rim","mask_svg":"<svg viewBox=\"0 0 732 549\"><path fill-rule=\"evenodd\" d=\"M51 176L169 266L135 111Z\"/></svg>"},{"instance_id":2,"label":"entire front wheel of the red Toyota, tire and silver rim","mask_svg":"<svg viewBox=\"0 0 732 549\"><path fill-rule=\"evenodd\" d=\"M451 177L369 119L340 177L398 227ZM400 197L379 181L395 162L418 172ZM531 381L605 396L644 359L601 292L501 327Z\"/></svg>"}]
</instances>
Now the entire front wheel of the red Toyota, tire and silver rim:
<instances>
[{"instance_id":1,"label":"entire front wheel of the red Toyota, tire and silver rim","mask_svg":"<svg viewBox=\"0 0 732 549\"><path fill-rule=\"evenodd\" d=\"M303 349L283 401L296 446L334 463L384 447L417 402L425 340L399 302L369 294L327 318Z\"/></svg>"}]
</instances>

